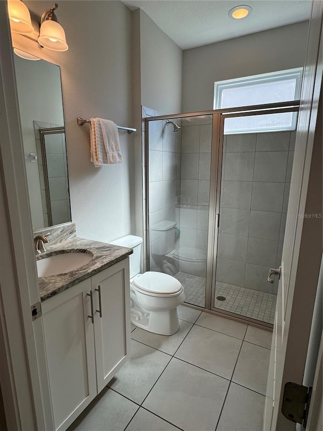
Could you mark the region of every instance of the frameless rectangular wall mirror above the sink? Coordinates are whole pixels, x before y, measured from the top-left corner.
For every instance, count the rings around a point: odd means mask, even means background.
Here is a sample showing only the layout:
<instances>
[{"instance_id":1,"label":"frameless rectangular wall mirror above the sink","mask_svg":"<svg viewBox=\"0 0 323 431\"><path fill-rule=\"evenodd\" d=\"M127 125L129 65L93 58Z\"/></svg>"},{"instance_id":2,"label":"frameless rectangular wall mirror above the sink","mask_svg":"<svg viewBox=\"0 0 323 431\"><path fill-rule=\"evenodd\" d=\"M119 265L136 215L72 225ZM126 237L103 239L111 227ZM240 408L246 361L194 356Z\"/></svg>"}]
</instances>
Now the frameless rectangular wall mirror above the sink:
<instances>
[{"instance_id":1,"label":"frameless rectangular wall mirror above the sink","mask_svg":"<svg viewBox=\"0 0 323 431\"><path fill-rule=\"evenodd\" d=\"M33 229L71 221L61 71L15 56Z\"/></svg>"}]
</instances>

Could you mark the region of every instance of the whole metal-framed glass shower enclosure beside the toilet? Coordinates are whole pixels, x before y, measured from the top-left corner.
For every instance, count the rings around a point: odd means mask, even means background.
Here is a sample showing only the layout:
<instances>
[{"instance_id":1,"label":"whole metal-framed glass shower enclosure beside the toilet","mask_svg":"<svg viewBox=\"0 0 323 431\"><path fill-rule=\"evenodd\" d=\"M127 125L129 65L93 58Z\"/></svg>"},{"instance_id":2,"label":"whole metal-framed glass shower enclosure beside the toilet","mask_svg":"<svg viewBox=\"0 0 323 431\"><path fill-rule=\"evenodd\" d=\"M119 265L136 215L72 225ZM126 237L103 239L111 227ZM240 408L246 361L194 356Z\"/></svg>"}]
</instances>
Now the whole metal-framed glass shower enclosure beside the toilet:
<instances>
[{"instance_id":1,"label":"whole metal-framed glass shower enclosure beside the toilet","mask_svg":"<svg viewBox=\"0 0 323 431\"><path fill-rule=\"evenodd\" d=\"M274 322L297 102L147 119L149 270L185 302Z\"/></svg>"}]
</instances>

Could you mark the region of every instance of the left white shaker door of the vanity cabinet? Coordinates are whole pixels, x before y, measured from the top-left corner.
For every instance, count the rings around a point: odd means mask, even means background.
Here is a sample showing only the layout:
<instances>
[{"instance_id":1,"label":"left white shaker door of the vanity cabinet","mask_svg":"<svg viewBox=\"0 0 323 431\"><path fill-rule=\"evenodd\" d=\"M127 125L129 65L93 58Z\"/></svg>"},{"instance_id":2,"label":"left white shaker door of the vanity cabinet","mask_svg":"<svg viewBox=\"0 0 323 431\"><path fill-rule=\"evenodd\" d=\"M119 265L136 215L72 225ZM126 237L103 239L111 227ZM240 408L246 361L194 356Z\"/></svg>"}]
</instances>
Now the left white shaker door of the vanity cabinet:
<instances>
[{"instance_id":1,"label":"left white shaker door of the vanity cabinet","mask_svg":"<svg viewBox=\"0 0 323 431\"><path fill-rule=\"evenodd\" d=\"M65 430L96 396L90 278L42 304L55 429Z\"/></svg>"}]
</instances>

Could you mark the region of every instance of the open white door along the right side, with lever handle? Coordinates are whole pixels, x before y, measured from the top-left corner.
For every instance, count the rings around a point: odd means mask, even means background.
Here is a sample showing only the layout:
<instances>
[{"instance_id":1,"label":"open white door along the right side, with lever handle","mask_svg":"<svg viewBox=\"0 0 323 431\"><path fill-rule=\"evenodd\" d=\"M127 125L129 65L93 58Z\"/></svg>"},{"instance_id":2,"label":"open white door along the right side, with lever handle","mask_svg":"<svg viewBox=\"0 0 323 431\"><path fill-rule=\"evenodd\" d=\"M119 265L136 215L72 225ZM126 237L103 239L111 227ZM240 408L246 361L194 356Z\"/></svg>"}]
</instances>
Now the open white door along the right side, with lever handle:
<instances>
[{"instance_id":1,"label":"open white door along the right side, with lever handle","mask_svg":"<svg viewBox=\"0 0 323 431\"><path fill-rule=\"evenodd\" d=\"M283 248L283 260L288 272L275 319L265 431L295 429L295 423L283 416L281 406L286 382L302 384L303 381L321 263L322 223L319 219L298 215L319 214L322 211L321 191L317 187L321 184L322 172L322 117L318 115L318 109L322 106L322 12L322 2L312 2ZM275 385L269 385L272 381Z\"/></svg>"}]
</instances>

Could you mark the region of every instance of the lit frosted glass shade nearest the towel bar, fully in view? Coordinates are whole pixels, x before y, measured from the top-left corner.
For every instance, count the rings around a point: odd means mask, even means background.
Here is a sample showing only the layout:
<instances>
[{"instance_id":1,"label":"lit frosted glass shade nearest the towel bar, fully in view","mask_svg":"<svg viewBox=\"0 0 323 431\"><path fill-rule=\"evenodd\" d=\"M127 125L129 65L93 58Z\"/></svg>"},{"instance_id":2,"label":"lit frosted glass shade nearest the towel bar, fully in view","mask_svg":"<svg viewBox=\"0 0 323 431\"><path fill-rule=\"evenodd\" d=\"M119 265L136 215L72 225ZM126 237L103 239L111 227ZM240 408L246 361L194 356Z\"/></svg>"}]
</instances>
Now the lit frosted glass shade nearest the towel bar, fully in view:
<instances>
[{"instance_id":1,"label":"lit frosted glass shade nearest the towel bar, fully in view","mask_svg":"<svg viewBox=\"0 0 323 431\"><path fill-rule=\"evenodd\" d=\"M41 24L38 43L52 51L67 51L69 49L63 27L52 20L46 20Z\"/></svg>"}]
</instances>

